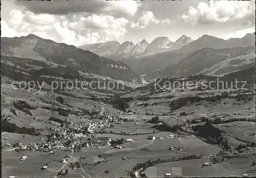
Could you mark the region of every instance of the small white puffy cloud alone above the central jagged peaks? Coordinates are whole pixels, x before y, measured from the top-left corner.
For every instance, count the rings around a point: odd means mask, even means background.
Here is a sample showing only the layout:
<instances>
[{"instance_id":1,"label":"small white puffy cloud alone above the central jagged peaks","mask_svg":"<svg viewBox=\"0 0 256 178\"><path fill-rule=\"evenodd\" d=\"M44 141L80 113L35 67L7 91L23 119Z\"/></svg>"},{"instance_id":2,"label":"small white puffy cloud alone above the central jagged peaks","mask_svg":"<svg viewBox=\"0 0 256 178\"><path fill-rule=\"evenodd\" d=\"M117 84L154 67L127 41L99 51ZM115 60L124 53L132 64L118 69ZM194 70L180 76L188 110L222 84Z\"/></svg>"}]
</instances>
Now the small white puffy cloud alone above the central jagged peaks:
<instances>
[{"instance_id":1,"label":"small white puffy cloud alone above the central jagged peaks","mask_svg":"<svg viewBox=\"0 0 256 178\"><path fill-rule=\"evenodd\" d=\"M166 24L171 24L173 22L175 22L175 20L170 20L167 18L157 19L152 11L143 11L139 20L136 23L134 22L131 23L131 27L144 29L152 23L166 25Z\"/></svg>"}]
</instances>

